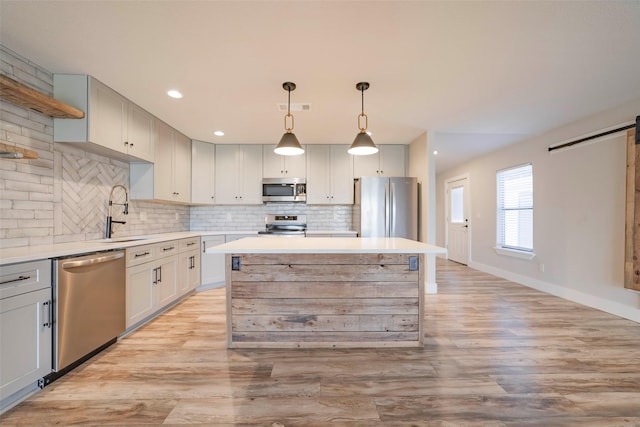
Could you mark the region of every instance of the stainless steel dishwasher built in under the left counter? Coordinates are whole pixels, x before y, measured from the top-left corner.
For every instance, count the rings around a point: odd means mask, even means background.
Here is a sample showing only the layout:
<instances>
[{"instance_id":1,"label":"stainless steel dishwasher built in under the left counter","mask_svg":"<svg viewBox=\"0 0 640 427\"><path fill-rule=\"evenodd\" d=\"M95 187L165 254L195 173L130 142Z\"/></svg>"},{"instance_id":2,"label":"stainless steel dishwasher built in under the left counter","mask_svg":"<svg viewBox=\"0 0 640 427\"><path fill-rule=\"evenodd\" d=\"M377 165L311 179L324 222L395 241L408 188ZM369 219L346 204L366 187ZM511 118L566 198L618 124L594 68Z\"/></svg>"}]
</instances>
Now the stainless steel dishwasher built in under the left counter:
<instances>
[{"instance_id":1,"label":"stainless steel dishwasher built in under the left counter","mask_svg":"<svg viewBox=\"0 0 640 427\"><path fill-rule=\"evenodd\" d=\"M113 344L125 330L124 250L53 263L53 370L49 381Z\"/></svg>"}]
</instances>

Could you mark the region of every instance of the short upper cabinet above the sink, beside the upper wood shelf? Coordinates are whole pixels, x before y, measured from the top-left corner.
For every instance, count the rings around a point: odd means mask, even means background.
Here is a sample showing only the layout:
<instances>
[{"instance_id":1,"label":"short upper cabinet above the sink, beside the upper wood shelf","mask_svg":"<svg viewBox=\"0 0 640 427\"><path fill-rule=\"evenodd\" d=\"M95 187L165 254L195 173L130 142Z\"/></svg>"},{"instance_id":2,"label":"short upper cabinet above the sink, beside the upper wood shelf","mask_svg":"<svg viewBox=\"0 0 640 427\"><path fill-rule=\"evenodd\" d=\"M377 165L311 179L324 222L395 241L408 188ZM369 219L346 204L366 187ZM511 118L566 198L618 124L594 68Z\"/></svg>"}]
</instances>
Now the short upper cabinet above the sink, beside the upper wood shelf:
<instances>
[{"instance_id":1,"label":"short upper cabinet above the sink, beside the upper wood shelf","mask_svg":"<svg viewBox=\"0 0 640 427\"><path fill-rule=\"evenodd\" d=\"M54 97L85 112L82 119L54 119L55 142L124 161L154 161L155 118L85 74L54 74Z\"/></svg>"}]
</instances>

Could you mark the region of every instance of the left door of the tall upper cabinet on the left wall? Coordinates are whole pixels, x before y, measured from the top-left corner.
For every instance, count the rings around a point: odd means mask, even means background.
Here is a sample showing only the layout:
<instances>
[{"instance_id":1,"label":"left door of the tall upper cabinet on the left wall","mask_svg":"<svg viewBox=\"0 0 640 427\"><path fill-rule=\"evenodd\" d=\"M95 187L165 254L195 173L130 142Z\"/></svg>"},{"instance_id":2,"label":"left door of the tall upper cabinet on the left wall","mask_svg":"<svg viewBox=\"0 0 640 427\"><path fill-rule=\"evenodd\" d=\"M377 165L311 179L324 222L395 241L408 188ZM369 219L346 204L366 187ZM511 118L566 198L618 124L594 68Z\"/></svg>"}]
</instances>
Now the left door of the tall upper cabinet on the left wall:
<instances>
[{"instance_id":1,"label":"left door of the tall upper cabinet on the left wall","mask_svg":"<svg viewBox=\"0 0 640 427\"><path fill-rule=\"evenodd\" d=\"M153 165L153 198L173 200L173 129L156 121L156 152Z\"/></svg>"}]
</instances>

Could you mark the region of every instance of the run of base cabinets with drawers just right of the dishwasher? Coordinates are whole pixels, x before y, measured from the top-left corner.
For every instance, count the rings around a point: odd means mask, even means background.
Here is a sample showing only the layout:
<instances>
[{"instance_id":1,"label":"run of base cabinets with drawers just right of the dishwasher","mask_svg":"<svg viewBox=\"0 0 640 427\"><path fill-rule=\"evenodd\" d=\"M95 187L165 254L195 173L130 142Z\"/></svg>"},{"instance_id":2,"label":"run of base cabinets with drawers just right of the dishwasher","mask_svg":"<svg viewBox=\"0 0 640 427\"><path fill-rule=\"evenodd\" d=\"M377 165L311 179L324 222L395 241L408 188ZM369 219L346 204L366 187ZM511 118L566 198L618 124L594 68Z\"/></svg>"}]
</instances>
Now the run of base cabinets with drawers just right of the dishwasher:
<instances>
[{"instance_id":1,"label":"run of base cabinets with drawers just right of the dishwasher","mask_svg":"<svg viewBox=\"0 0 640 427\"><path fill-rule=\"evenodd\" d=\"M127 329L198 286L199 240L195 237L127 249Z\"/></svg>"}]
</instances>

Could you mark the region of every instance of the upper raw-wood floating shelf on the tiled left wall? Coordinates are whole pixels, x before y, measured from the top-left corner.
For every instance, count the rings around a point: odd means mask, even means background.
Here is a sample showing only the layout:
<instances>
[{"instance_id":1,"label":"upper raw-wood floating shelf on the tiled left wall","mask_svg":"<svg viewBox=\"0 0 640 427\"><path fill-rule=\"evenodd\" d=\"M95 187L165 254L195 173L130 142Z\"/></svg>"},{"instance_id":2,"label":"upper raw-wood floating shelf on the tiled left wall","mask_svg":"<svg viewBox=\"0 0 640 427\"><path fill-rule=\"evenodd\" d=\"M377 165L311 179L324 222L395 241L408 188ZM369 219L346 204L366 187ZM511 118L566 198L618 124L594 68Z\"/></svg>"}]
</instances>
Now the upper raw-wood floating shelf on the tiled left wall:
<instances>
[{"instance_id":1,"label":"upper raw-wood floating shelf on the tiled left wall","mask_svg":"<svg viewBox=\"0 0 640 427\"><path fill-rule=\"evenodd\" d=\"M56 119L81 119L84 112L0 74L0 98Z\"/></svg>"}]
</instances>

